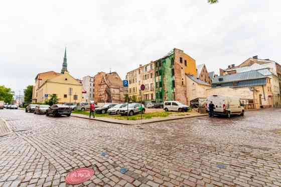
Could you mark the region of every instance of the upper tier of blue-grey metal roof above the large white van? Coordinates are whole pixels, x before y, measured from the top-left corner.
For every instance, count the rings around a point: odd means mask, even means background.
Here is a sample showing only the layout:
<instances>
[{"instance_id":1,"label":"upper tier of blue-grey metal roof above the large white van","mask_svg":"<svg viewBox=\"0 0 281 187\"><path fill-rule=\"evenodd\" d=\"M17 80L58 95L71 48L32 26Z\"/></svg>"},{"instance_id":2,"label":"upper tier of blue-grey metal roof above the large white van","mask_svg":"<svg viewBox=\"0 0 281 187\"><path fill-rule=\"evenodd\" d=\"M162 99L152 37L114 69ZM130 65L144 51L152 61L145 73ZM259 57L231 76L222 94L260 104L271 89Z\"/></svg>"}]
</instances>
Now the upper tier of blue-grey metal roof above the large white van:
<instances>
[{"instance_id":1,"label":"upper tier of blue-grey metal roof above the large white van","mask_svg":"<svg viewBox=\"0 0 281 187\"><path fill-rule=\"evenodd\" d=\"M223 79L222 81L219 81L219 79ZM225 76L218 76L213 79L213 84L217 83L225 83L225 82L233 82L233 81L243 81L243 80L253 80L253 79L262 79L265 78L261 73L259 73L256 70L253 71L247 71L242 73L236 73L231 75L225 75Z\"/></svg>"}]
</instances>

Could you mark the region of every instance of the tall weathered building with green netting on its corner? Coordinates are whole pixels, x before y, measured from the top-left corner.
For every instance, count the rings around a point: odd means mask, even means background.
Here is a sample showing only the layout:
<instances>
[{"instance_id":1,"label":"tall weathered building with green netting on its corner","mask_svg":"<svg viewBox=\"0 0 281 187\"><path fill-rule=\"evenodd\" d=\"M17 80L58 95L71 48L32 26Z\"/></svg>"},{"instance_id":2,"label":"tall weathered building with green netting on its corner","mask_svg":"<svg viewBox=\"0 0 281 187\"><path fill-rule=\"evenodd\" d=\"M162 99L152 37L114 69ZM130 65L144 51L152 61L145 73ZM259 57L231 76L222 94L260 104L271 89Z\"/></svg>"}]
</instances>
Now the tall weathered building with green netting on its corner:
<instances>
[{"instance_id":1,"label":"tall weathered building with green netting on its corner","mask_svg":"<svg viewBox=\"0 0 281 187\"><path fill-rule=\"evenodd\" d=\"M195 60L184 51L173 49L163 58L127 73L129 96L140 101L139 90L144 84L142 100L145 102L177 100L187 103L186 74L197 75Z\"/></svg>"}]
</instances>

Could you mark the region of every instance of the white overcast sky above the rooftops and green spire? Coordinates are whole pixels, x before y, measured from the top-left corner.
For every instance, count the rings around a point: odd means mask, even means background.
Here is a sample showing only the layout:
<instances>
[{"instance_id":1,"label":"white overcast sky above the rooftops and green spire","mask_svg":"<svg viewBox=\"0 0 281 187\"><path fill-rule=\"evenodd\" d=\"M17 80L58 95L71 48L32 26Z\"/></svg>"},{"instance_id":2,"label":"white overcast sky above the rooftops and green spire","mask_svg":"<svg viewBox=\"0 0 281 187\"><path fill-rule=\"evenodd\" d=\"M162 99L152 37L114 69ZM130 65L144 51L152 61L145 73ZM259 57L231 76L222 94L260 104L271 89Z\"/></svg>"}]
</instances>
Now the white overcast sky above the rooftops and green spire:
<instances>
[{"instance_id":1,"label":"white overcast sky above the rooftops and green spire","mask_svg":"<svg viewBox=\"0 0 281 187\"><path fill-rule=\"evenodd\" d=\"M65 46L75 78L112 68L124 79L173 48L209 72L255 55L281 62L280 7L279 0L3 1L0 85L18 93L38 73L60 72Z\"/></svg>"}]
</instances>

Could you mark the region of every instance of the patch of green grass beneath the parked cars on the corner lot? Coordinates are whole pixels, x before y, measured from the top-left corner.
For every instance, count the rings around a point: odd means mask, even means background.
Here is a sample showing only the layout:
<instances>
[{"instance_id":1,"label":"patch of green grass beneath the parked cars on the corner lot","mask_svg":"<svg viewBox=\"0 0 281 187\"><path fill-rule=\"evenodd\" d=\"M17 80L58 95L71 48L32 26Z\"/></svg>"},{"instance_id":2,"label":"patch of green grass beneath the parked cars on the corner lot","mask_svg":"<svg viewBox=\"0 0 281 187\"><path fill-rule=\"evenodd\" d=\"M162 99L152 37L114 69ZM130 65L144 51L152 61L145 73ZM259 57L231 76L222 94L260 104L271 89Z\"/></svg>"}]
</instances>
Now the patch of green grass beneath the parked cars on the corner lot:
<instances>
[{"instance_id":1,"label":"patch of green grass beneath the parked cars on the corner lot","mask_svg":"<svg viewBox=\"0 0 281 187\"><path fill-rule=\"evenodd\" d=\"M81 110L76 110L73 111L72 113L74 114L83 114L83 115L87 115L89 116L89 111L81 111ZM145 113L143 114L143 119L152 119L154 117L168 117L170 115L187 115L186 112L182 113L182 112L152 112L152 113ZM109 114L96 114L96 117L108 117L108 118L113 118L113 119L120 119L120 120L127 120L127 116L121 116L120 114L116 114L116 115L109 115ZM142 114L136 114L133 116L128 116L128 120L139 120L142 119Z\"/></svg>"}]
</instances>

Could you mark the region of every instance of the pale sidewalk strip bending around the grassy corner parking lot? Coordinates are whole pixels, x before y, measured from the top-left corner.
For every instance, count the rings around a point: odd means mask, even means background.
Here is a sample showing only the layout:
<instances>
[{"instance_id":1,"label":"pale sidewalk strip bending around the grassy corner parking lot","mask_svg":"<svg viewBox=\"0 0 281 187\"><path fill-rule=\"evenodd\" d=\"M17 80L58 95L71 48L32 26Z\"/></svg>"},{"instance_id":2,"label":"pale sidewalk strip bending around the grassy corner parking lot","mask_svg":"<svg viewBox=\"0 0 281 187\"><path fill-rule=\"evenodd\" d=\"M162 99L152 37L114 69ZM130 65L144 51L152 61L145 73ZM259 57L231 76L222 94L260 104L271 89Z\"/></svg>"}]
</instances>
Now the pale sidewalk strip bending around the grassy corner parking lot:
<instances>
[{"instance_id":1,"label":"pale sidewalk strip bending around the grassy corner parking lot","mask_svg":"<svg viewBox=\"0 0 281 187\"><path fill-rule=\"evenodd\" d=\"M83 115L83 114L71 114L72 117L78 117L78 118L90 119L90 120L96 120L96 121L103 121L103 122L115 123L115 124L122 124L122 125L140 125L140 124L147 124L147 123L156 123L156 122L161 122L161 121L171 121L171 120L177 120L177 119L206 116L206 115L209 115L209 114L200 114L200 113L192 111L188 115L185 115L185 116L171 115L168 117L155 117L152 119L143 119L143 120L120 120L120 119L113 119L113 118L107 118L107 117L89 118L88 116Z\"/></svg>"}]
</instances>

